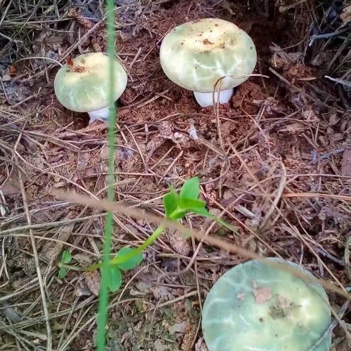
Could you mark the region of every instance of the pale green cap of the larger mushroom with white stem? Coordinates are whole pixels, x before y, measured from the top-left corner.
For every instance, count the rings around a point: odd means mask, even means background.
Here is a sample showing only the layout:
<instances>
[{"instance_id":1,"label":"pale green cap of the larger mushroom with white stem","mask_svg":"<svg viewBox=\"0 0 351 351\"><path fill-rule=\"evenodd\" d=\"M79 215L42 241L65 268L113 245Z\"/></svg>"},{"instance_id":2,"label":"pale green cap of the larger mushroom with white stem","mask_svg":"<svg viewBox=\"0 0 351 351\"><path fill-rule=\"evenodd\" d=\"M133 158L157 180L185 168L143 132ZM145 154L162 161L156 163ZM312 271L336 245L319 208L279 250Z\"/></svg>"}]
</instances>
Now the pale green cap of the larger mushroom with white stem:
<instances>
[{"instance_id":1,"label":"pale green cap of the larger mushroom with white stem","mask_svg":"<svg viewBox=\"0 0 351 351\"><path fill-rule=\"evenodd\" d=\"M237 78L223 78L220 89L234 88L249 78L257 61L249 35L232 22L214 18L175 27L162 40L159 56L169 79L199 93L213 92L224 76Z\"/></svg>"}]
</instances>

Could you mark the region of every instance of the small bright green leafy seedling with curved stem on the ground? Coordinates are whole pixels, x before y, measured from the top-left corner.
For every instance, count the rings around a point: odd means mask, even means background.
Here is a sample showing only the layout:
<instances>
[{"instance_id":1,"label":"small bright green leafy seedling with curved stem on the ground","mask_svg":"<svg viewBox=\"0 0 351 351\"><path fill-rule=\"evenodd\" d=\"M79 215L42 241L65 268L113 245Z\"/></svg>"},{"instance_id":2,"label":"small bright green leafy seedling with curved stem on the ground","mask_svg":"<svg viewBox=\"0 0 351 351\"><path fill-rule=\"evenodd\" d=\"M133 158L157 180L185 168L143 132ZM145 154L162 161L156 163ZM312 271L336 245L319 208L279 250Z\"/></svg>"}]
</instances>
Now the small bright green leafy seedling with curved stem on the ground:
<instances>
[{"instance_id":1,"label":"small bright green leafy seedling with curved stem on the ground","mask_svg":"<svg viewBox=\"0 0 351 351\"><path fill-rule=\"evenodd\" d=\"M165 209L165 217L168 220L177 221L185 217L188 213L202 215L207 218L220 223L226 228L234 231L234 228L224 221L211 215L206 209L206 201L199 199L200 195L200 183L198 177L188 179L180 189L180 192L176 192L170 187L169 193L163 196L163 206ZM112 292L117 291L122 284L122 272L131 270L137 267L143 260L142 252L149 247L165 230L163 225L159 225L156 230L137 248L122 248L115 256L109 261L108 275L109 275L109 289ZM63 256L67 250L62 254L62 259L59 262L59 274L64 277L67 273L67 269L75 271L94 271L101 268L102 262L91 265L89 267L78 267L68 265L71 261L71 256L66 254L65 260ZM69 253L69 251L67 251Z\"/></svg>"}]
</instances>

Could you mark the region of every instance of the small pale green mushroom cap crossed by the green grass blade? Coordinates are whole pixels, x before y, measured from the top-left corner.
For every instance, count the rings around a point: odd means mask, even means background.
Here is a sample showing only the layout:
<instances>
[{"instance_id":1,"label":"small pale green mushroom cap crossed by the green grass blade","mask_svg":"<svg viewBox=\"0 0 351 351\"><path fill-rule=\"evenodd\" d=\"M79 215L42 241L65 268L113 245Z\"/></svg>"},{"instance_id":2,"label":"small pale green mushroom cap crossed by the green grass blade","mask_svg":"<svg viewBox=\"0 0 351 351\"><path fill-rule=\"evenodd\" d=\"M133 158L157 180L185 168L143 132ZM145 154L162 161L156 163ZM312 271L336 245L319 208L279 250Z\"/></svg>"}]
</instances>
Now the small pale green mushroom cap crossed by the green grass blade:
<instances>
[{"instance_id":1,"label":"small pale green mushroom cap crossed by the green grass blade","mask_svg":"<svg viewBox=\"0 0 351 351\"><path fill-rule=\"evenodd\" d=\"M104 53L88 53L73 59L59 69L54 81L59 102L69 110L90 112L109 105L109 64ZM115 79L114 93L117 100L127 86L127 73L123 66L113 60Z\"/></svg>"}]
</instances>

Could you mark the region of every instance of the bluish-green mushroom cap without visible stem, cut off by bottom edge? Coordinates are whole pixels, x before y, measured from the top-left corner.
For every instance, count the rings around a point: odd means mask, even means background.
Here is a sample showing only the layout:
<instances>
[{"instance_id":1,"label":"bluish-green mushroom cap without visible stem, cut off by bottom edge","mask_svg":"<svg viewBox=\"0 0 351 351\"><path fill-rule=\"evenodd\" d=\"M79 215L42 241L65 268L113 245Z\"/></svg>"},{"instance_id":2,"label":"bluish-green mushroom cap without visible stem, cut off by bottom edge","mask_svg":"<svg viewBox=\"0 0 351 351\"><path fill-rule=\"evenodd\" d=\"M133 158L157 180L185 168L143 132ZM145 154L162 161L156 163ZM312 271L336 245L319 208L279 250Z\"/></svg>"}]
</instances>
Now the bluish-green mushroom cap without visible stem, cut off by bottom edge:
<instances>
[{"instance_id":1,"label":"bluish-green mushroom cap without visible stem, cut off by bottom edge","mask_svg":"<svg viewBox=\"0 0 351 351\"><path fill-rule=\"evenodd\" d=\"M269 258L312 277L295 263ZM262 261L223 274L202 309L209 351L307 351L328 330L331 311L324 289ZM329 351L328 332L314 351Z\"/></svg>"}]
</instances>

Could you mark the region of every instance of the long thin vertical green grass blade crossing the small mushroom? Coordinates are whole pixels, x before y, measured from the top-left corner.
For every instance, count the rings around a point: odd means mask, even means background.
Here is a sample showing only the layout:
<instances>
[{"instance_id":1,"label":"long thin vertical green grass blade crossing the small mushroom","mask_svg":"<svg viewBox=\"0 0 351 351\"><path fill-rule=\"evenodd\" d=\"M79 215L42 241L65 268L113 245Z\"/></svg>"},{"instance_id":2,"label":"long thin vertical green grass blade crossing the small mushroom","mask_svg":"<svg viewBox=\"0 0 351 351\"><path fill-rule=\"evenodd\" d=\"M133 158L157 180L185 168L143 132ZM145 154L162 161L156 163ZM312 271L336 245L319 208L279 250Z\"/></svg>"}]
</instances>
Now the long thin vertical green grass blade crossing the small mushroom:
<instances>
[{"instance_id":1,"label":"long thin vertical green grass blade crossing the small mushroom","mask_svg":"<svg viewBox=\"0 0 351 351\"><path fill-rule=\"evenodd\" d=\"M108 54L110 58L109 65L109 105L110 105L110 115L108 120L108 143L109 143L109 188L107 190L107 197L110 201L114 200L115 189L113 184L115 183L115 98L114 98L114 83L115 83L115 72L113 66L113 60L115 57L115 29L114 29L114 0L107 0L107 30L108 30ZM105 350L105 330L107 323L107 305L108 305L108 265L110 259L111 251L111 236L113 232L113 214L109 212L106 216L105 223L105 242L104 242L104 254L102 260L102 270L101 270L101 286L99 293L99 303L98 303L98 334L97 334L97 351Z\"/></svg>"}]
</instances>

